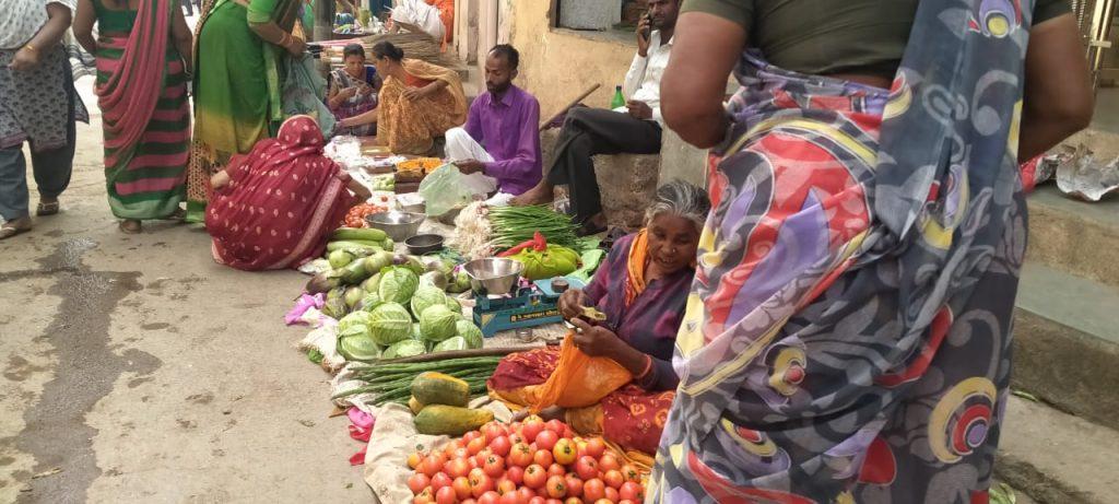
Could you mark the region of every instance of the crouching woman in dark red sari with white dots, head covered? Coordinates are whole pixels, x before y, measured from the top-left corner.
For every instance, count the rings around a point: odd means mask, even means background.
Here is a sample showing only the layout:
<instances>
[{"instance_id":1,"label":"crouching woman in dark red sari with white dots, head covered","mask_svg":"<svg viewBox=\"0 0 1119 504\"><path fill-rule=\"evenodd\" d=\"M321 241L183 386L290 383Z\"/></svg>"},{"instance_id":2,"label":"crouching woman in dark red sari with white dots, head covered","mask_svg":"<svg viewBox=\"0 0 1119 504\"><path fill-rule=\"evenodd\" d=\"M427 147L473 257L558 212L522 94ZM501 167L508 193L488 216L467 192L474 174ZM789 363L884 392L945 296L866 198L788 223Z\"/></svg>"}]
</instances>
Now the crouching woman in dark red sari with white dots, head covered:
<instances>
[{"instance_id":1,"label":"crouching woman in dark red sari with white dots, head covered","mask_svg":"<svg viewBox=\"0 0 1119 504\"><path fill-rule=\"evenodd\" d=\"M206 230L214 260L258 271L298 268L322 254L346 211L369 197L322 155L325 144L314 120L297 115L210 179Z\"/></svg>"}]
</instances>

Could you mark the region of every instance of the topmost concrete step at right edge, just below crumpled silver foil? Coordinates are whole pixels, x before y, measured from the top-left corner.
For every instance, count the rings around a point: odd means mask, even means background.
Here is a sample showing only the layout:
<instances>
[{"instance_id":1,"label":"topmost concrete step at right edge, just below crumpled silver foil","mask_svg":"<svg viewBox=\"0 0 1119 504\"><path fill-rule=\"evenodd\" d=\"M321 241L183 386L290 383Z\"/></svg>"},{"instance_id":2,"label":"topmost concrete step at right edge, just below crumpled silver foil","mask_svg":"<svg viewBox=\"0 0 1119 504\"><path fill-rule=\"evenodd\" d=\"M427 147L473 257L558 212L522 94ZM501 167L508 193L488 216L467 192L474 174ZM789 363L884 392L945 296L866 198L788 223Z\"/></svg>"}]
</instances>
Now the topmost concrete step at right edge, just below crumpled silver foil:
<instances>
[{"instance_id":1,"label":"topmost concrete step at right edge, just below crumpled silver foil","mask_svg":"<svg viewBox=\"0 0 1119 504\"><path fill-rule=\"evenodd\" d=\"M1046 185L1027 202L1028 262L1119 287L1119 198L1084 203Z\"/></svg>"}]
</instances>

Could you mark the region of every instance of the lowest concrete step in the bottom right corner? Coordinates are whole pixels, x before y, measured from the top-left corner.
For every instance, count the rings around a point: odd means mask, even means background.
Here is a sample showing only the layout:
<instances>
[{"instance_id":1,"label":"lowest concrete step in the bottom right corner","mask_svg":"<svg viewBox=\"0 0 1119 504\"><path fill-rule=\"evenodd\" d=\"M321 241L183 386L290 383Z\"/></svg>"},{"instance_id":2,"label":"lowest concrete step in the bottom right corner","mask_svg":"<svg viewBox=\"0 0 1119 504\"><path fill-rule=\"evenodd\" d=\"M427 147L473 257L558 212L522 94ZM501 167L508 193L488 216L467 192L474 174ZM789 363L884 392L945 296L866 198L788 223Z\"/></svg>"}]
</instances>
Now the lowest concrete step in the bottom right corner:
<instances>
[{"instance_id":1,"label":"lowest concrete step in the bottom right corner","mask_svg":"<svg viewBox=\"0 0 1119 504\"><path fill-rule=\"evenodd\" d=\"M1110 504L1119 501L1116 454L1119 432L1012 395L995 475L1041 504Z\"/></svg>"}]
</instances>

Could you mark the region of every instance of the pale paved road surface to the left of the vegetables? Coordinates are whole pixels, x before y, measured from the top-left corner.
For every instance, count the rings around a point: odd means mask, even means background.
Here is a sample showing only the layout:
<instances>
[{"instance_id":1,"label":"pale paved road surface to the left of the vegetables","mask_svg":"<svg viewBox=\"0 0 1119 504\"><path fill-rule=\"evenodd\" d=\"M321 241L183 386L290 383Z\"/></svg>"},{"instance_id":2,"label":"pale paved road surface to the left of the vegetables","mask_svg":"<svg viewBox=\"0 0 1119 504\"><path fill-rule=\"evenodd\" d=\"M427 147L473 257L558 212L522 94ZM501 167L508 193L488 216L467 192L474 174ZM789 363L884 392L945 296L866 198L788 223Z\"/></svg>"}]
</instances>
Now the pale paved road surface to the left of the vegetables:
<instances>
[{"instance_id":1,"label":"pale paved road surface to the left of the vegetables","mask_svg":"<svg viewBox=\"0 0 1119 504\"><path fill-rule=\"evenodd\" d=\"M121 234L96 118L78 138L63 213L0 242L0 503L368 502L283 326L304 278L219 267L184 225Z\"/></svg>"}]
</instances>

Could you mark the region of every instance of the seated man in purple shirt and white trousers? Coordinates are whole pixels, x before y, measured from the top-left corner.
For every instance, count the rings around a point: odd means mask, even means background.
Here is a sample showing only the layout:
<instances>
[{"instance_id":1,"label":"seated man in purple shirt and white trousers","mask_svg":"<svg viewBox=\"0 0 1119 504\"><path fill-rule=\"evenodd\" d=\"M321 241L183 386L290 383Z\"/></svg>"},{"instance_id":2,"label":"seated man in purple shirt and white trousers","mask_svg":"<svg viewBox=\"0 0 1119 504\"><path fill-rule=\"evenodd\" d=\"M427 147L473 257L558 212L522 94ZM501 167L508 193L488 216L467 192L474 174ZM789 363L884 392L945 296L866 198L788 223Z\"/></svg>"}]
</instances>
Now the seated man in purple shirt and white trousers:
<instances>
[{"instance_id":1,"label":"seated man in purple shirt and white trousers","mask_svg":"<svg viewBox=\"0 0 1119 504\"><path fill-rule=\"evenodd\" d=\"M498 190L514 196L536 186L540 170L540 104L513 85L520 54L508 44L486 57L486 93L470 105L467 124L446 132L446 157L470 175L498 180Z\"/></svg>"}]
</instances>

